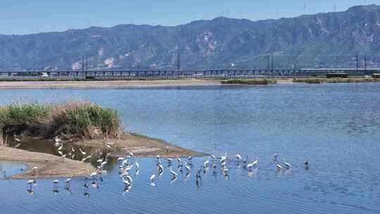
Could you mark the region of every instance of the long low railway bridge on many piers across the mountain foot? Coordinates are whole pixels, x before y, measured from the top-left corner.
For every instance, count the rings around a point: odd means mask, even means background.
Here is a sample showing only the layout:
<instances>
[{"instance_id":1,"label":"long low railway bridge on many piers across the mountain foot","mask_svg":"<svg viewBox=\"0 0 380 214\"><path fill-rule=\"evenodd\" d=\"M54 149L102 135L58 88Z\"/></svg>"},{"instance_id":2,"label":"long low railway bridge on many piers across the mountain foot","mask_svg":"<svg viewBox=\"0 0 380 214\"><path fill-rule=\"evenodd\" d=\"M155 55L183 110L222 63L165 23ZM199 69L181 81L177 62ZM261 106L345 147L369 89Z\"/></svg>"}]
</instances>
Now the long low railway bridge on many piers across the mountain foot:
<instances>
[{"instance_id":1,"label":"long low railway bridge on many piers across the mountain foot","mask_svg":"<svg viewBox=\"0 0 380 214\"><path fill-rule=\"evenodd\" d=\"M144 68L144 69L98 69L98 70L1 70L0 79L225 79L225 78L283 78L326 77L329 73L347 73L365 76L380 73L380 68L303 68L303 69L256 69L256 68Z\"/></svg>"}]
</instances>

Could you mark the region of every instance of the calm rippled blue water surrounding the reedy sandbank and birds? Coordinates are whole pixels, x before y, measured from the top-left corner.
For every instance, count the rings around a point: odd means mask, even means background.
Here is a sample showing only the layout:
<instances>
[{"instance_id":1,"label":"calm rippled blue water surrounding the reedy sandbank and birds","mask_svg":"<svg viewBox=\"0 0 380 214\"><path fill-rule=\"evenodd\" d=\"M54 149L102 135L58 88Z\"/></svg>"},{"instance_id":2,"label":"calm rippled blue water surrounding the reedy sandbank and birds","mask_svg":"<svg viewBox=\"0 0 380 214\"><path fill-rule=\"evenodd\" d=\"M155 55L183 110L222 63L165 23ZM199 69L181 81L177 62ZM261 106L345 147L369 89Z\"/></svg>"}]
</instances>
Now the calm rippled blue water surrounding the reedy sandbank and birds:
<instances>
[{"instance_id":1,"label":"calm rippled blue water surrounding the reedy sandbank and birds","mask_svg":"<svg viewBox=\"0 0 380 214\"><path fill-rule=\"evenodd\" d=\"M141 159L132 191L123 192L108 165L99 189L84 196L83 180L68 194L39 180L0 181L8 213L380 213L380 84L277 84L270 87L0 90L0 104L89 100L116 108L127 130L220 156L260 159L258 171L230 162L229 177L195 171L156 187L155 159ZM293 165L276 173L273 153ZM310 169L303 160L310 159ZM194 166L203 158L193 160ZM174 164L176 166L176 164ZM165 166L166 167L166 166ZM17 205L17 206L14 206Z\"/></svg>"}]
</instances>

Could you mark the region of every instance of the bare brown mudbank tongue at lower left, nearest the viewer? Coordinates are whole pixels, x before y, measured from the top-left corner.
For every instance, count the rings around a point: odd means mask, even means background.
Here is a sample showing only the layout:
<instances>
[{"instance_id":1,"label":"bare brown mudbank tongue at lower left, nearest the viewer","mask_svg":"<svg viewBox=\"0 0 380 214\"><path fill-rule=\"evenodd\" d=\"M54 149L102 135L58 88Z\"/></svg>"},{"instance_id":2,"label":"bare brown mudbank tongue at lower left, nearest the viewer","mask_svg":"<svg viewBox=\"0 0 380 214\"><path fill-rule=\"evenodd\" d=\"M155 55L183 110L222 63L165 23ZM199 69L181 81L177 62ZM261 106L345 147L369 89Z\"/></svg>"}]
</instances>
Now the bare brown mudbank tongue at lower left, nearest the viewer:
<instances>
[{"instance_id":1,"label":"bare brown mudbank tongue at lower left, nearest the viewer","mask_svg":"<svg viewBox=\"0 0 380 214\"><path fill-rule=\"evenodd\" d=\"M89 163L79 160L61 158L47 153L31 152L0 146L0 160L24 163L28 169L21 174L12 176L13 179L83 177L96 169ZM37 166L34 175L32 168Z\"/></svg>"}]
</instances>

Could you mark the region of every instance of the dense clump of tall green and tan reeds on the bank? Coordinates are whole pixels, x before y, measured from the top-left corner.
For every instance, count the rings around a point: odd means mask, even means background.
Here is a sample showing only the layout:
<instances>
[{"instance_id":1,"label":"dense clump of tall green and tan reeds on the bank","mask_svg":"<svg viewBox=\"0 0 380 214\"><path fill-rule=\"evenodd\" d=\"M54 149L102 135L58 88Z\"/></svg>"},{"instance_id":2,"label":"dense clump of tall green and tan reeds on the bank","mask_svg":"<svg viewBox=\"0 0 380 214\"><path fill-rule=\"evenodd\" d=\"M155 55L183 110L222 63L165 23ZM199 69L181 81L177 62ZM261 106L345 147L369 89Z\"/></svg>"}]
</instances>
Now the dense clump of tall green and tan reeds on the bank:
<instances>
[{"instance_id":1,"label":"dense clump of tall green and tan reeds on the bank","mask_svg":"<svg viewBox=\"0 0 380 214\"><path fill-rule=\"evenodd\" d=\"M20 103L0 106L0 132L46 139L117 138L122 124L116 111L95 103Z\"/></svg>"}]
</instances>

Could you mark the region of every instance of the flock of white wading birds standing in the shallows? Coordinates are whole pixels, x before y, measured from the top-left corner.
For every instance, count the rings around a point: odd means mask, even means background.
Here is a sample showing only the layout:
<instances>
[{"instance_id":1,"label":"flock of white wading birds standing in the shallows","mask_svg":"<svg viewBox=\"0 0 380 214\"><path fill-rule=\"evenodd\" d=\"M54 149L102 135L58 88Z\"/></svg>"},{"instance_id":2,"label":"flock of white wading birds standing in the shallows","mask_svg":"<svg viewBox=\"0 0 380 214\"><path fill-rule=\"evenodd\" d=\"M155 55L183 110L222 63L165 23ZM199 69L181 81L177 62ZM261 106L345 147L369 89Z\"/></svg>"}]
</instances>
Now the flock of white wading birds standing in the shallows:
<instances>
[{"instance_id":1,"label":"flock of white wading birds standing in the shallows","mask_svg":"<svg viewBox=\"0 0 380 214\"><path fill-rule=\"evenodd\" d=\"M56 142L56 147L58 147L58 153L61 155L61 157L64 158L67 156L67 154L62 152L63 149L63 143L61 139L56 137L55 139ZM113 148L113 143L109 142L106 144L108 149ZM88 156L85 151L82 149L79 149L80 153L82 154L82 161L87 161L91 156ZM71 152L68 153L68 157L74 158L74 149L72 148ZM105 158L99 158L99 160L96 160L96 172L92 172L90 175L87 175L84 177L84 187L85 187L85 196L89 196L89 186L91 185L92 187L98 188L98 180L103 181L103 178L101 175L106 174L107 171L104 169L105 165L108 163L108 158L109 158L110 153L106 154ZM272 156L272 159L275 160L277 172L281 172L281 170L289 170L291 169L291 164L287 163L286 161L283 161L283 165L280 165L279 162L277 161L277 158L279 155L276 153ZM191 163L192 157L189 156L188 158L161 158L160 156L157 156L157 161L156 161L156 169L155 172L149 177L149 182L151 186L156 186L155 181L156 178L160 178L163 175L164 167L163 167L163 161L167 163L168 169L170 171L170 176L171 176L171 181L177 180L178 177L178 172L186 172L185 180L189 179L191 175L191 170L193 168L193 164ZM208 156L203 163L201 164L200 168L197 168L196 170L196 184L200 182L202 179L202 176L205 175L205 173L212 168L213 169L213 174L217 174L220 172L224 176L228 176L229 173L229 168L227 168L227 161L233 160L236 161L239 164L243 165L243 168L246 169L248 172L252 172L253 170L256 170L258 168L258 163L259 160L258 158L255 158L254 160L249 161L248 156L246 158L242 158L242 156L237 153L234 155L232 158L227 157L227 153L224 153L224 155L220 157L215 157L214 155ZM177 170L173 170L173 163L177 163ZM124 191L131 191L132 186L134 184L134 180L132 179L132 173L134 171L134 175L137 176L139 175L139 170L140 170L140 165L139 162L137 161L137 158L134 158L134 153L132 152L127 152L125 153L124 156L117 158L117 163L118 163L118 168L119 168L119 174L120 178L122 180L122 183L124 184ZM309 166L309 160L305 160L304 162L305 168L308 168ZM38 168L34 167L32 168L32 175L36 175ZM58 184L59 180L53 180L53 191L58 192ZM68 178L64 181L65 183L65 189L67 191L70 191L70 182L71 178ZM27 184L29 185L29 189L27 191L30 194L34 194L34 191L32 190L32 187L37 184L36 180L29 180L27 181Z\"/></svg>"}]
</instances>

